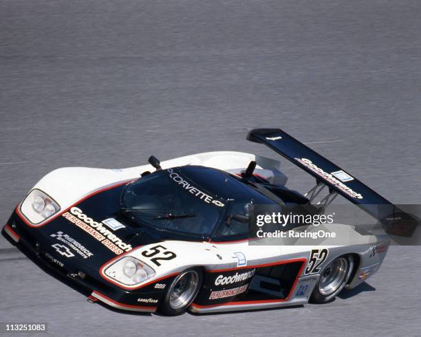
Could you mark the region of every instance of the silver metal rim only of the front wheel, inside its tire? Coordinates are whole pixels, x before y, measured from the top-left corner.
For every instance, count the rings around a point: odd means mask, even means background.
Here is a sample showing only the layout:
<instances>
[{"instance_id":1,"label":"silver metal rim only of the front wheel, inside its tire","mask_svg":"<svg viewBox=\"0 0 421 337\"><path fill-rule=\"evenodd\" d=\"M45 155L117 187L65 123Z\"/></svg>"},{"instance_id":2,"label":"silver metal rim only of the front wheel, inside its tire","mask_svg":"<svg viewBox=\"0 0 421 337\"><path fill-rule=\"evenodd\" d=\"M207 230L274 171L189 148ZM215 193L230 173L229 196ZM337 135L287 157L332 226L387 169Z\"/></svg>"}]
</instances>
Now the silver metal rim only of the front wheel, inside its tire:
<instances>
[{"instance_id":1,"label":"silver metal rim only of the front wheel, inside its tire","mask_svg":"<svg viewBox=\"0 0 421 337\"><path fill-rule=\"evenodd\" d=\"M178 275L169 290L169 305L177 310L186 307L193 301L199 287L199 274L188 270Z\"/></svg>"}]
</instances>

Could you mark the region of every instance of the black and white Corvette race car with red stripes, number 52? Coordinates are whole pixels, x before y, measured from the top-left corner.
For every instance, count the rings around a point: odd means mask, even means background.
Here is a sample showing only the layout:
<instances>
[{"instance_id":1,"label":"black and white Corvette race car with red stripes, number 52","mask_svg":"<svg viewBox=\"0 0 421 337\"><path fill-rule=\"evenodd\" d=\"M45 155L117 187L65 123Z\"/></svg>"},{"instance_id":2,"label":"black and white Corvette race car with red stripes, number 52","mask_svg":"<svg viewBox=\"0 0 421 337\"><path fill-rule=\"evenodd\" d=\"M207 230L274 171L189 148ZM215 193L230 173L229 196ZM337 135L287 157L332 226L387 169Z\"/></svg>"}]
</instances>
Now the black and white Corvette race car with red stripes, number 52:
<instances>
[{"instance_id":1,"label":"black and white Corvette race car with red stripes, number 52","mask_svg":"<svg viewBox=\"0 0 421 337\"><path fill-rule=\"evenodd\" d=\"M151 156L122 169L58 168L17 204L2 233L90 301L137 312L326 303L372 276L387 235L333 224L349 244L259 244L265 238L250 235L252 206L321 213L341 195L381 219L373 205L391 203L281 129L254 129L248 140L302 168L315 186L301 194L286 186L278 160L230 151ZM327 195L314 202L323 187Z\"/></svg>"}]
</instances>

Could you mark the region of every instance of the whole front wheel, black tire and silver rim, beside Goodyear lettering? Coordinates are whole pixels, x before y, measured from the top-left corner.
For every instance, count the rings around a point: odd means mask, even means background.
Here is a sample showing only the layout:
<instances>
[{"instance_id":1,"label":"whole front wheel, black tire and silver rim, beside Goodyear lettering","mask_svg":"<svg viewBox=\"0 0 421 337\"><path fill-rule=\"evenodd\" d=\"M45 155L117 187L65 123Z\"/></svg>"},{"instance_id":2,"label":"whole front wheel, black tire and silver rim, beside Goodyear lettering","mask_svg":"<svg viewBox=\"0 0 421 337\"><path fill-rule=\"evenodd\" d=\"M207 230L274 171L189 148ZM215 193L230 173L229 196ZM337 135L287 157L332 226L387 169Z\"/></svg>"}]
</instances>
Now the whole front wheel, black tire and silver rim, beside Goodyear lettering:
<instances>
[{"instance_id":1,"label":"whole front wheel, black tire and silver rim, beside Goodyear lettering","mask_svg":"<svg viewBox=\"0 0 421 337\"><path fill-rule=\"evenodd\" d=\"M180 272L166 290L158 311L166 316L182 314L191 305L202 285L202 270L191 268Z\"/></svg>"}]
</instances>

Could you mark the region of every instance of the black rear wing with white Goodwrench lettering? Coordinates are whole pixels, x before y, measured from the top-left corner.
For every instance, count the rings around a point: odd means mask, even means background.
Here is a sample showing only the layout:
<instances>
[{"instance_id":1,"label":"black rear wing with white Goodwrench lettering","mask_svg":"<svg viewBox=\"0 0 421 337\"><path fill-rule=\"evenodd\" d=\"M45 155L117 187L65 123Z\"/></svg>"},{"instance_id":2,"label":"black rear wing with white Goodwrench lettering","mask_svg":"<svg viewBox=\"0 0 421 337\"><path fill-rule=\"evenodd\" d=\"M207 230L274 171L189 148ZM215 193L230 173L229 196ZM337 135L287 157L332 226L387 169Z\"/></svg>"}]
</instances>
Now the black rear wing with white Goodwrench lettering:
<instances>
[{"instance_id":1,"label":"black rear wing with white Goodwrench lettering","mask_svg":"<svg viewBox=\"0 0 421 337\"><path fill-rule=\"evenodd\" d=\"M394 215L402 214L385 197L281 129L253 129L248 133L247 140L270 147L292 164L310 173L316 178L317 186L327 186L330 194L342 195L383 224L387 222L389 229L390 220L395 219Z\"/></svg>"}]
</instances>

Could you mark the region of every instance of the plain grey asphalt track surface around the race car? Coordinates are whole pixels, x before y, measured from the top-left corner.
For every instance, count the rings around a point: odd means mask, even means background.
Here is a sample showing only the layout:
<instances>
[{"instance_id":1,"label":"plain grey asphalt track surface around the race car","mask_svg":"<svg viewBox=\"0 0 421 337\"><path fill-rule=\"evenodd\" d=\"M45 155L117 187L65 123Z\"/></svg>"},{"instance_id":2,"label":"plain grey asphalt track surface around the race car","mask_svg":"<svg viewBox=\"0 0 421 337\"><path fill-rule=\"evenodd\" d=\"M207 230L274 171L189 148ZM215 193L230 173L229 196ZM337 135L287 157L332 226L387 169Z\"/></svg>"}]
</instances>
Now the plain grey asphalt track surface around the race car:
<instances>
[{"instance_id":1,"label":"plain grey asphalt track surface around the race car","mask_svg":"<svg viewBox=\"0 0 421 337\"><path fill-rule=\"evenodd\" d=\"M276 157L245 140L255 127L282 127L392 202L418 203L420 17L407 0L1 0L0 222L61 166ZM169 318L89 304L1 237L0 321L61 336L419 336L420 267L419 247L392 247L327 305Z\"/></svg>"}]
</instances>

